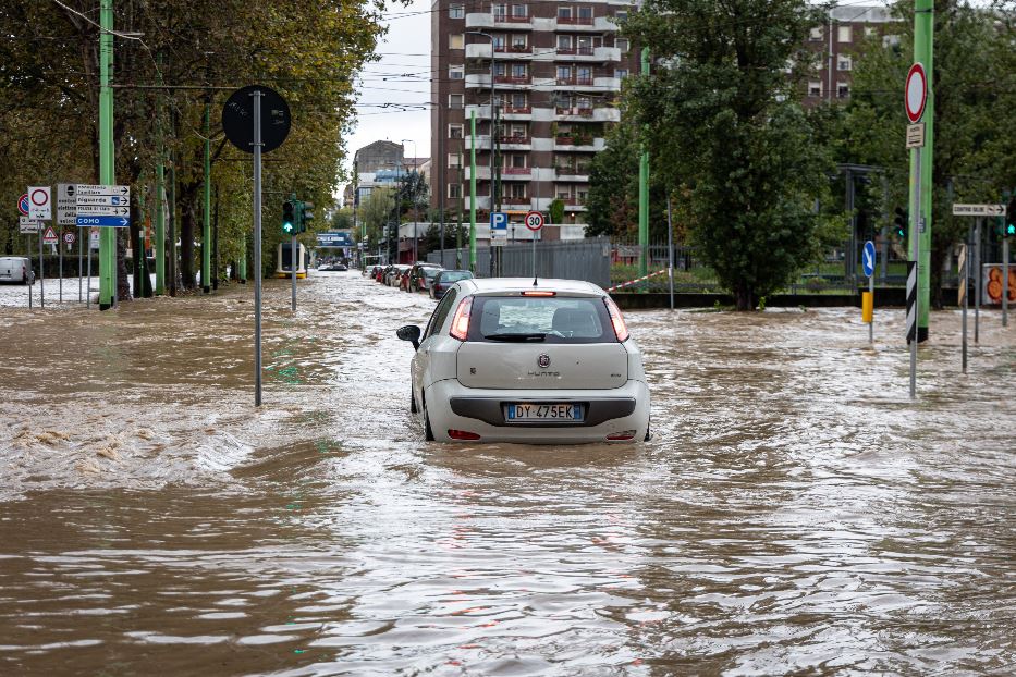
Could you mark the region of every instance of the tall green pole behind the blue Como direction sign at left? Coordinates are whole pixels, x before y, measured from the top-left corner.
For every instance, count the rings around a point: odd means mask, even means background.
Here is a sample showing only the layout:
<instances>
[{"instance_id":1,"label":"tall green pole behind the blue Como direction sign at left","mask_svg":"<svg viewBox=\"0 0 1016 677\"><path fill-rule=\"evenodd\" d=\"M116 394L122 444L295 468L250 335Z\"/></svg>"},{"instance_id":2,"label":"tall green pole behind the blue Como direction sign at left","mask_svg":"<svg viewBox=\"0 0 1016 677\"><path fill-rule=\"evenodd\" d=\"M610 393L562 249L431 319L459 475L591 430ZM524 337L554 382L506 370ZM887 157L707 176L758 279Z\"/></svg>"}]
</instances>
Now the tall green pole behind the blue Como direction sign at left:
<instances>
[{"instance_id":1,"label":"tall green pole behind the blue Como direction sign at left","mask_svg":"<svg viewBox=\"0 0 1016 677\"><path fill-rule=\"evenodd\" d=\"M113 183L113 0L99 4L99 183ZM113 307L117 295L117 231L99 231L99 310Z\"/></svg>"}]
</instances>

